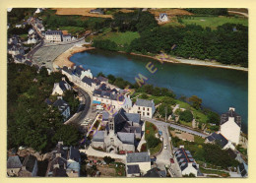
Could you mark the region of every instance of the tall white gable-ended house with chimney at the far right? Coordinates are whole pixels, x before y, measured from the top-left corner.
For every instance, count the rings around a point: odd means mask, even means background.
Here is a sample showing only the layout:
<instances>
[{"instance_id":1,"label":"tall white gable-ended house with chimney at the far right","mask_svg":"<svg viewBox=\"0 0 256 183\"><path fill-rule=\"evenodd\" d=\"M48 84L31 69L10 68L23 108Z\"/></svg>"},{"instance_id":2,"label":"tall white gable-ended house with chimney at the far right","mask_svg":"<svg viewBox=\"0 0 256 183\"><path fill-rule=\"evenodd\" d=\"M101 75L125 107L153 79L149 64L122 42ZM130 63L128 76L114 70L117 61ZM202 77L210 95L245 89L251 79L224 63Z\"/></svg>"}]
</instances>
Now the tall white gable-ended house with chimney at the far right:
<instances>
[{"instance_id":1,"label":"tall white gable-ended house with chimney at the far right","mask_svg":"<svg viewBox=\"0 0 256 183\"><path fill-rule=\"evenodd\" d=\"M241 131L241 116L234 112L233 107L229 107L228 112L221 116L221 134L233 144L239 144Z\"/></svg>"}]
</instances>

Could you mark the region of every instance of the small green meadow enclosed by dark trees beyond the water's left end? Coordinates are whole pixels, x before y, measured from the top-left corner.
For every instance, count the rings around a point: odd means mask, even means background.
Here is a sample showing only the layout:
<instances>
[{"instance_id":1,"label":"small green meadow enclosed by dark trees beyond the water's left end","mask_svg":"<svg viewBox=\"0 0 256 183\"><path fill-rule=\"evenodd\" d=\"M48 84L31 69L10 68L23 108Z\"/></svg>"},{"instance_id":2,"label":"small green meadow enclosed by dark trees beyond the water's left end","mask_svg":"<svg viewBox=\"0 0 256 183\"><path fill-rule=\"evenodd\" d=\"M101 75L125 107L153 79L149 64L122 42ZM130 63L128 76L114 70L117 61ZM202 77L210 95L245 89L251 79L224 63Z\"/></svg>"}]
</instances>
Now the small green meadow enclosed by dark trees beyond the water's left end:
<instances>
[{"instance_id":1,"label":"small green meadow enclosed by dark trees beyond the water's left end","mask_svg":"<svg viewBox=\"0 0 256 183\"><path fill-rule=\"evenodd\" d=\"M107 30L104 30L107 31ZM109 39L114 41L116 44L124 45L125 43L130 44L131 41L135 38L139 38L140 34L135 31L125 31L125 32L107 32L102 33L102 35L98 36L98 38Z\"/></svg>"}]
</instances>

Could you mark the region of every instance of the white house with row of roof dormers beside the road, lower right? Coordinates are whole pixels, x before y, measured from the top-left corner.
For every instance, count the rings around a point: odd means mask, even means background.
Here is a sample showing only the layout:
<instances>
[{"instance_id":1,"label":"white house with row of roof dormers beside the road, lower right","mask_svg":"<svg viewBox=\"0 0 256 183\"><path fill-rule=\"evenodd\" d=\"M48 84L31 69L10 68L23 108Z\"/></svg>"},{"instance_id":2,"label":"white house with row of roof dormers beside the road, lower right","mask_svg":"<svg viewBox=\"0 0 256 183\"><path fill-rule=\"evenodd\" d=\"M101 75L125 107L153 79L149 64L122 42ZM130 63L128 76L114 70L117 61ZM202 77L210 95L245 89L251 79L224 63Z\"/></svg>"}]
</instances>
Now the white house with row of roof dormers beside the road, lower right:
<instances>
[{"instance_id":1,"label":"white house with row of roof dormers beside the road, lower right","mask_svg":"<svg viewBox=\"0 0 256 183\"><path fill-rule=\"evenodd\" d=\"M196 163L192 154L189 151L186 151L183 146L180 146L174 153L174 156L178 162L182 175L189 175L192 173L197 177L201 174L199 171L199 164Z\"/></svg>"}]
</instances>

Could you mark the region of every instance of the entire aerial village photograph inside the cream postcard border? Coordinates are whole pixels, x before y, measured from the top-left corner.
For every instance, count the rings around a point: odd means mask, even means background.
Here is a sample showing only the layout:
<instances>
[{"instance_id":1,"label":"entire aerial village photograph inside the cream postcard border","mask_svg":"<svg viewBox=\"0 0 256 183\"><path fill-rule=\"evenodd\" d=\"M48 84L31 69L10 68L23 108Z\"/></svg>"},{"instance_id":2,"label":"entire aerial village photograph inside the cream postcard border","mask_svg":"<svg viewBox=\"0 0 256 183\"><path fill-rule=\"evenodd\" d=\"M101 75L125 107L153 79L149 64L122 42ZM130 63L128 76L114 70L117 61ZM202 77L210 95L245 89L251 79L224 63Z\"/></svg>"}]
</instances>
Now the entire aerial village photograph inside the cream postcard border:
<instances>
[{"instance_id":1,"label":"entire aerial village photograph inside the cream postcard border","mask_svg":"<svg viewBox=\"0 0 256 183\"><path fill-rule=\"evenodd\" d=\"M247 177L248 10L8 8L8 177Z\"/></svg>"}]
</instances>

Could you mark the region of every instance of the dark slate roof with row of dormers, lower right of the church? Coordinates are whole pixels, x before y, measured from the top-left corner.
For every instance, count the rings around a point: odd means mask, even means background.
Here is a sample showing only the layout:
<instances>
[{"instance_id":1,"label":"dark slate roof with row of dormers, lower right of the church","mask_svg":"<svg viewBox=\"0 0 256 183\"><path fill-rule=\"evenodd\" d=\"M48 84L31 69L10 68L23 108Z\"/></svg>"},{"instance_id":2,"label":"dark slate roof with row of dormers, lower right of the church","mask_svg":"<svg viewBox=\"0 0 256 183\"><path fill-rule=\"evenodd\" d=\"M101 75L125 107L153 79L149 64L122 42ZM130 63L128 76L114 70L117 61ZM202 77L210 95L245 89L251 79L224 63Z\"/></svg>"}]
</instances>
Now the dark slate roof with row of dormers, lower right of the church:
<instances>
[{"instance_id":1,"label":"dark slate roof with row of dormers, lower right of the church","mask_svg":"<svg viewBox=\"0 0 256 183\"><path fill-rule=\"evenodd\" d=\"M189 151L184 150L183 148L178 149L175 152L176 159L178 161L179 167L181 171L186 169L188 163L192 163L192 166L195 169L198 169L195 163L195 159L193 158L192 154Z\"/></svg>"}]
</instances>

